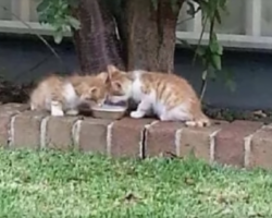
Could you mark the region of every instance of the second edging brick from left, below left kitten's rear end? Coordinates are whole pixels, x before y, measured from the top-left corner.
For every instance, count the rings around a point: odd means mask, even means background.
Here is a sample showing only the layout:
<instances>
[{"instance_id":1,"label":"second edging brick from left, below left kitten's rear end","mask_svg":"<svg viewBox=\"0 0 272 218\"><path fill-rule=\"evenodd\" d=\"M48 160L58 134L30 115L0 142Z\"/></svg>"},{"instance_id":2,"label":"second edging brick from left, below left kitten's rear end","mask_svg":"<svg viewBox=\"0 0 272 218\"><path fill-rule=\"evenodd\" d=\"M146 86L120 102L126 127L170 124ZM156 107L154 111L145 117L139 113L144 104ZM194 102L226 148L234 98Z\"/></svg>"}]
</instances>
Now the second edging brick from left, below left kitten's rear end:
<instances>
[{"instance_id":1,"label":"second edging brick from left, below left kitten's rear end","mask_svg":"<svg viewBox=\"0 0 272 218\"><path fill-rule=\"evenodd\" d=\"M47 116L40 111L20 113L14 120L12 147L38 148L40 145L40 123Z\"/></svg>"}]
</instances>

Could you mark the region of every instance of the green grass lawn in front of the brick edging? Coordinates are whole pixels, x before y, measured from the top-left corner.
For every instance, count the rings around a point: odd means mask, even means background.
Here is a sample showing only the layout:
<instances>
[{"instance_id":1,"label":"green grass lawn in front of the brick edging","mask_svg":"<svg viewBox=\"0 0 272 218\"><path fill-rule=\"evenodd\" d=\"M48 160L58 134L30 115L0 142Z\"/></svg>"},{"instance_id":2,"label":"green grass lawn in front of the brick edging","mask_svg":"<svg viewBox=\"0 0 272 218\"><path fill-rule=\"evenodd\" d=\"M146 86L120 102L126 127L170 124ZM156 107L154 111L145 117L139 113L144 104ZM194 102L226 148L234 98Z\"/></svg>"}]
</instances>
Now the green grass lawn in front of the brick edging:
<instances>
[{"instance_id":1,"label":"green grass lawn in front of the brick edging","mask_svg":"<svg viewBox=\"0 0 272 218\"><path fill-rule=\"evenodd\" d=\"M272 173L194 159L0 150L0 217L272 217Z\"/></svg>"}]
</instances>

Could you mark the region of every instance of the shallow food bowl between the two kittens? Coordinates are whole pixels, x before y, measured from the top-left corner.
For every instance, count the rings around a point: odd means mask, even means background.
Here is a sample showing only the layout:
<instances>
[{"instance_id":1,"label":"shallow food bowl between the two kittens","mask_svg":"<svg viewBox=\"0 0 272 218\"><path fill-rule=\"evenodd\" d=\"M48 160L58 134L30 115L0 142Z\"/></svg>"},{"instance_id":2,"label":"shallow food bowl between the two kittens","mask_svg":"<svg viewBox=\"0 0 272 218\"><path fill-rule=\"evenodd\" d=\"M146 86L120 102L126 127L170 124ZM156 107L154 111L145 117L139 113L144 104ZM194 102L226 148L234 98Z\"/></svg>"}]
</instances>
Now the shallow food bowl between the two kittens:
<instances>
[{"instance_id":1,"label":"shallow food bowl between the two kittens","mask_svg":"<svg viewBox=\"0 0 272 218\"><path fill-rule=\"evenodd\" d=\"M125 116L127 107L116 105L103 105L102 107L91 107L94 118L120 120Z\"/></svg>"}]
</instances>

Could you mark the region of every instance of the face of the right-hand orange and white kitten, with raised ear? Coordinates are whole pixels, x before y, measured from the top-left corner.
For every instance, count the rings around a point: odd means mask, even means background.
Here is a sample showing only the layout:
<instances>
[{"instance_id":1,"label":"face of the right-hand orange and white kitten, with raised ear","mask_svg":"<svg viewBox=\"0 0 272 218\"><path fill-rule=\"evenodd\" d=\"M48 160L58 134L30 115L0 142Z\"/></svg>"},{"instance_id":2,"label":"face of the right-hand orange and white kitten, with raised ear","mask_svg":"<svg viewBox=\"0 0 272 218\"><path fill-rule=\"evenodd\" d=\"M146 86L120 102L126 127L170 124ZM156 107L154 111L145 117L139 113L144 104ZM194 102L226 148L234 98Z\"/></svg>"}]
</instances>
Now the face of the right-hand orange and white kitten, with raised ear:
<instances>
[{"instance_id":1,"label":"face of the right-hand orange and white kitten, with raised ear","mask_svg":"<svg viewBox=\"0 0 272 218\"><path fill-rule=\"evenodd\" d=\"M128 74L113 65L108 66L108 100L113 104L127 101L132 89L132 80Z\"/></svg>"}]
</instances>

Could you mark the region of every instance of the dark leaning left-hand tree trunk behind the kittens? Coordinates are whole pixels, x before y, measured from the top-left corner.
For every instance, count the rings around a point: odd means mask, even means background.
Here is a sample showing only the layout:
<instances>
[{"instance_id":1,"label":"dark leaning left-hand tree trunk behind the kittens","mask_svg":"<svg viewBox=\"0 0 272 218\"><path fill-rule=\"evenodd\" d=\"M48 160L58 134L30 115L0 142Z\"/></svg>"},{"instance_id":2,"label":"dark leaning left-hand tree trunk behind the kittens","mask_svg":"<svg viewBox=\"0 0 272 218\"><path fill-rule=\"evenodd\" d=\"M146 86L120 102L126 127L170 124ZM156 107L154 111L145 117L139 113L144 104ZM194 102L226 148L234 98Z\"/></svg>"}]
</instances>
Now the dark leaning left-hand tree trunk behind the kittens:
<instances>
[{"instance_id":1,"label":"dark leaning left-hand tree trunk behind the kittens","mask_svg":"<svg viewBox=\"0 0 272 218\"><path fill-rule=\"evenodd\" d=\"M100 0L79 0L72 10L81 22L81 29L73 29L73 39L83 73L99 73L108 64L124 68L120 41L113 16Z\"/></svg>"}]
</instances>

